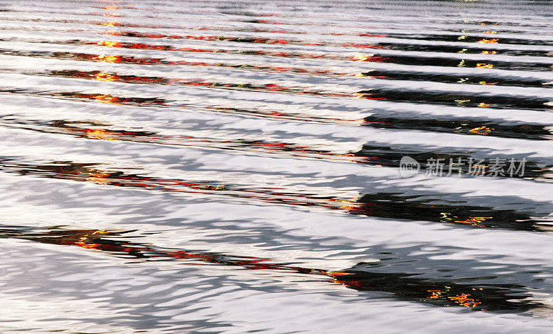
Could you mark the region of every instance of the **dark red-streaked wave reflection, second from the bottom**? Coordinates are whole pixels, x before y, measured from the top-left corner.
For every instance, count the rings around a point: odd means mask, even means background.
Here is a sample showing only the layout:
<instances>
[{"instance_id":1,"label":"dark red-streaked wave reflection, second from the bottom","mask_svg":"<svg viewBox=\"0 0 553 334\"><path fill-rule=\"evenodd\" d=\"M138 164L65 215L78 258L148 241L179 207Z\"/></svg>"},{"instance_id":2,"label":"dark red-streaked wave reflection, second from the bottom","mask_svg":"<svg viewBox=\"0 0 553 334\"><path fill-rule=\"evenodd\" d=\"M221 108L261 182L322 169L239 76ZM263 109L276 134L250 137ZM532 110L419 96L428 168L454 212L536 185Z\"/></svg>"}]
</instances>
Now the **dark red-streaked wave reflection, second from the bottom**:
<instances>
[{"instance_id":1,"label":"dark red-streaked wave reflection, second from the bottom","mask_svg":"<svg viewBox=\"0 0 553 334\"><path fill-rule=\"evenodd\" d=\"M61 126L61 124L60 124ZM63 128L63 127L62 127ZM71 127L68 128L71 130ZM95 131L86 129L84 136L100 140L121 140L120 131ZM127 136L149 136L148 134ZM95 164L63 163L51 165L14 165L3 163L0 168L5 172L30 174L46 178L84 181L112 187L135 187L172 194L203 194L205 196L228 196L252 201L310 207L341 211L348 214L375 216L388 219L424 220L441 223L470 225L474 228L512 228L514 230L538 230L534 224L538 221L525 214L508 210L494 210L490 207L466 205L432 205L416 198L404 198L394 194L359 194L357 198L344 196L320 196L297 192L294 189L260 188L251 185L234 185L221 180L191 180L158 178L126 174L123 171L106 171L93 168ZM409 199L409 201L406 201ZM487 215L482 216L485 212ZM479 214L479 215L477 215ZM523 223L524 222L524 223Z\"/></svg>"}]
</instances>

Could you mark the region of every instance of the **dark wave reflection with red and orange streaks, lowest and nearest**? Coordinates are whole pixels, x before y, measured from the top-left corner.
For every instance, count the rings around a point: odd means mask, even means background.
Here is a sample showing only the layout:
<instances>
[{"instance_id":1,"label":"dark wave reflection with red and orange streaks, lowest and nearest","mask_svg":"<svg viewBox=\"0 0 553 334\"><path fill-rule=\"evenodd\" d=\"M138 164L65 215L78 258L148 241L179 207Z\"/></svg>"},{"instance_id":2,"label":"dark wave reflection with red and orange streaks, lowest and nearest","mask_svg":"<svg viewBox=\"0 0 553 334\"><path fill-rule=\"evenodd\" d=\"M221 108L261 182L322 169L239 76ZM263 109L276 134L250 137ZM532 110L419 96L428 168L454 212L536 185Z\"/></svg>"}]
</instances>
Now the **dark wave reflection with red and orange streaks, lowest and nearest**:
<instances>
[{"instance_id":1,"label":"dark wave reflection with red and orange streaks, lowest and nearest","mask_svg":"<svg viewBox=\"0 0 553 334\"><path fill-rule=\"evenodd\" d=\"M382 291L392 293L395 298L415 301L431 306L458 306L471 310L494 310L509 312L524 311L541 307L521 293L524 286L507 284L458 284L455 281L418 278L402 272L380 272L372 270L366 263L359 263L344 270L325 270L308 266L279 263L265 257L211 252L209 250L187 250L161 248L149 243L122 239L133 231L109 230L65 230L60 228L17 230L3 229L0 238L23 239L52 245L65 245L86 250L103 252L122 259L135 259L133 263L153 261L174 261L181 265L205 265L241 267L247 270L291 273L304 275L306 281L344 286L353 290ZM132 238L132 234L126 239ZM135 237L135 236L134 236ZM140 260L137 262L136 260ZM391 267L393 270L393 267ZM320 277L320 279L317 279ZM303 280L302 279L302 280ZM299 281L301 282L301 280ZM518 293L515 293L518 291Z\"/></svg>"}]
</instances>

